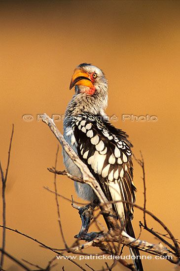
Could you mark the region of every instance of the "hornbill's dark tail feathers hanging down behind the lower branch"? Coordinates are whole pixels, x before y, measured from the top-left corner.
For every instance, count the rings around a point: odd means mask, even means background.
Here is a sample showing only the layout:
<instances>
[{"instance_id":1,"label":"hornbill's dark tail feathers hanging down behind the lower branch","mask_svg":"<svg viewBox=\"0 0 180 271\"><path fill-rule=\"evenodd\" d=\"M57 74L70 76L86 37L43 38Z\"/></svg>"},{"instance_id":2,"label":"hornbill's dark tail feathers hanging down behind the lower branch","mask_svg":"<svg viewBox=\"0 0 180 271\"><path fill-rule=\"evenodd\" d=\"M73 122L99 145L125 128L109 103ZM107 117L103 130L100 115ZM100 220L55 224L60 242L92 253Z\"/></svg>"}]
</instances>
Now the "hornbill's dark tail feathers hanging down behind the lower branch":
<instances>
[{"instance_id":1,"label":"hornbill's dark tail feathers hanging down behind the lower branch","mask_svg":"<svg viewBox=\"0 0 180 271\"><path fill-rule=\"evenodd\" d=\"M131 236L133 238L136 238L134 230L133 230L133 226L131 224L131 220L129 220L127 225L126 225L126 233L129 236ZM134 262L136 270L137 271L143 271L143 264L142 264L142 261L141 261L141 256L140 256L139 249L138 248L130 248L130 252L131 252L131 256L133 256L133 262Z\"/></svg>"}]
</instances>

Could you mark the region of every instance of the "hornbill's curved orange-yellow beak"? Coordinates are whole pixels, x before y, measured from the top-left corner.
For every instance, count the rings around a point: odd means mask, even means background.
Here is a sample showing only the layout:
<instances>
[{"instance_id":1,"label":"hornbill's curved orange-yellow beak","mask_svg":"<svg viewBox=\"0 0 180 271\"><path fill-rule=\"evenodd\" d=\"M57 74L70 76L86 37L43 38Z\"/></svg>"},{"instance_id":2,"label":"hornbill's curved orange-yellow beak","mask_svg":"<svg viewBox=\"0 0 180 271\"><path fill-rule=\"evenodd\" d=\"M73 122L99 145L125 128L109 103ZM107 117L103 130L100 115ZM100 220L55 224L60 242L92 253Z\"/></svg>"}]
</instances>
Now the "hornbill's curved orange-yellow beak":
<instances>
[{"instance_id":1,"label":"hornbill's curved orange-yellow beak","mask_svg":"<svg viewBox=\"0 0 180 271\"><path fill-rule=\"evenodd\" d=\"M82 85L89 88L93 88L93 83L90 79L90 75L83 71L81 68L76 68L72 75L70 90L75 85Z\"/></svg>"}]
</instances>

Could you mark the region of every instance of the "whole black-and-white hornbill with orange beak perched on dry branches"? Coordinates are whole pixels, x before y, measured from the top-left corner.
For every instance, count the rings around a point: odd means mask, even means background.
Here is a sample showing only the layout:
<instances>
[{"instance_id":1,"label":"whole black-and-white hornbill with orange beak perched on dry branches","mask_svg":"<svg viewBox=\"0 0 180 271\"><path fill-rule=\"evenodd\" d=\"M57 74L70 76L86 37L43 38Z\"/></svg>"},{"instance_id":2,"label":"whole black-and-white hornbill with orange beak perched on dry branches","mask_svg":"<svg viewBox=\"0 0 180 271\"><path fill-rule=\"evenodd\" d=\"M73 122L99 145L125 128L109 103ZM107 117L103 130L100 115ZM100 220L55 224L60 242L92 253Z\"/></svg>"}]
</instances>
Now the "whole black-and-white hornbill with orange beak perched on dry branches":
<instances>
[{"instance_id":1,"label":"whole black-and-white hornbill with orange beak perched on dry branches","mask_svg":"<svg viewBox=\"0 0 180 271\"><path fill-rule=\"evenodd\" d=\"M128 135L109 123L104 110L108 103L108 82L100 68L83 63L75 68L70 90L75 86L75 95L69 102L64 117L64 137L87 165L99 182L108 201L125 200L135 203L136 187L133 184L133 145ZM63 151L64 164L70 174L82 177L68 154ZM80 198L93 203L96 196L87 184L74 182ZM133 206L128 203L113 203L121 226L135 238L131 220ZM86 225L88 226L88 225ZM86 229L87 232L87 229ZM138 271L143 271L139 250L130 248Z\"/></svg>"}]
</instances>

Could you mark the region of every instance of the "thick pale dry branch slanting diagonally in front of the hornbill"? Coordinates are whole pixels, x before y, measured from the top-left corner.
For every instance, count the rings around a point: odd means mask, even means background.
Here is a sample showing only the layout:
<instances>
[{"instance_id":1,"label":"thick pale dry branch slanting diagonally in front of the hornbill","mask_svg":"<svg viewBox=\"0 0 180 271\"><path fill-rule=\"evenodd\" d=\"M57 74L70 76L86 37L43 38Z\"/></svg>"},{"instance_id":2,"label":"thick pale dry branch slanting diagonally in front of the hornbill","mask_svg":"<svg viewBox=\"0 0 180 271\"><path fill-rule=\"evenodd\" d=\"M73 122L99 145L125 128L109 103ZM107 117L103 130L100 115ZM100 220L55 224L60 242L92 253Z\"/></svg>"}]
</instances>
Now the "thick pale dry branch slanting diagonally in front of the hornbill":
<instances>
[{"instance_id":1,"label":"thick pale dry branch slanting diagonally in front of the hornbill","mask_svg":"<svg viewBox=\"0 0 180 271\"><path fill-rule=\"evenodd\" d=\"M58 141L61 143L63 146L64 150L67 152L69 157L72 159L74 164L80 169L82 173L82 179L75 179L76 181L79 182L84 182L88 185L91 186L91 188L94 190L97 198L99 199L101 209L103 213L107 214L107 220L108 224L110 226L110 230L108 233L104 233L99 235L98 237L95 237L95 239L90 240L89 242L83 244L83 245L76 245L74 247L69 248L69 252L77 253L79 251L82 251L82 249L89 248L91 246L97 246L106 253L109 252L109 247L106 245L107 242L118 242L119 239L121 243L125 244L126 246L129 247L137 247L140 250L143 250L145 252L155 254L155 255L162 255L162 256L169 256L170 262L177 264L180 261L179 256L179 245L175 239L175 237L172 235L172 233L169 231L169 229L153 214L151 215L156 221L158 221L164 229L168 232L170 235L171 239L173 240L175 244L175 253L171 251L170 249L166 248L165 246L162 245L162 243L159 244L151 244L147 241L139 240L139 239L134 239L130 236L128 236L124 231L122 231L117 223L117 220L114 218L113 211L111 208L111 203L108 202L106 199L105 195L103 194L98 182L96 179L93 177L87 166L79 159L79 157L76 155L76 153L72 150L70 145L67 143L67 141L64 139L63 135L59 132L57 129L56 125L54 124L53 120L49 118L46 114L41 115L42 121L46 123L50 130L53 132L53 134L56 136ZM52 170L53 172L53 170ZM62 171L59 171L59 174L62 174ZM55 173L55 172L54 172ZM64 174L68 175L66 171L63 172ZM68 176L71 179L74 180L74 176ZM145 184L144 184L144 197L145 197ZM133 204L135 207L137 206L136 204ZM144 205L145 207L145 205ZM145 208L140 208L144 211L144 221L145 221L145 213L151 214L148 212ZM83 238L82 238L83 239Z\"/></svg>"}]
</instances>

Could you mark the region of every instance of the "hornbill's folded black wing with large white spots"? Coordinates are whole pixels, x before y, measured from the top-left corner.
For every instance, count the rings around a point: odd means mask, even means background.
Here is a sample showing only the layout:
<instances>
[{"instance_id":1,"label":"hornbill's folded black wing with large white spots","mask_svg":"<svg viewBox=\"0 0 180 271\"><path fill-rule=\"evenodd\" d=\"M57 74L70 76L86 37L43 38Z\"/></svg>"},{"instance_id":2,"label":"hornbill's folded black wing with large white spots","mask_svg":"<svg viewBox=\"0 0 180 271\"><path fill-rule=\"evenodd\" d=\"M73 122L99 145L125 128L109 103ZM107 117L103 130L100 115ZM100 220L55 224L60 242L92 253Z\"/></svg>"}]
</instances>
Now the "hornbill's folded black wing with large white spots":
<instances>
[{"instance_id":1,"label":"hornbill's folded black wing with large white spots","mask_svg":"<svg viewBox=\"0 0 180 271\"><path fill-rule=\"evenodd\" d=\"M109 201L135 202L132 144L127 135L102 117L81 114L74 117L73 132L77 153L99 182ZM133 206L115 203L114 209L124 225L133 218Z\"/></svg>"}]
</instances>

